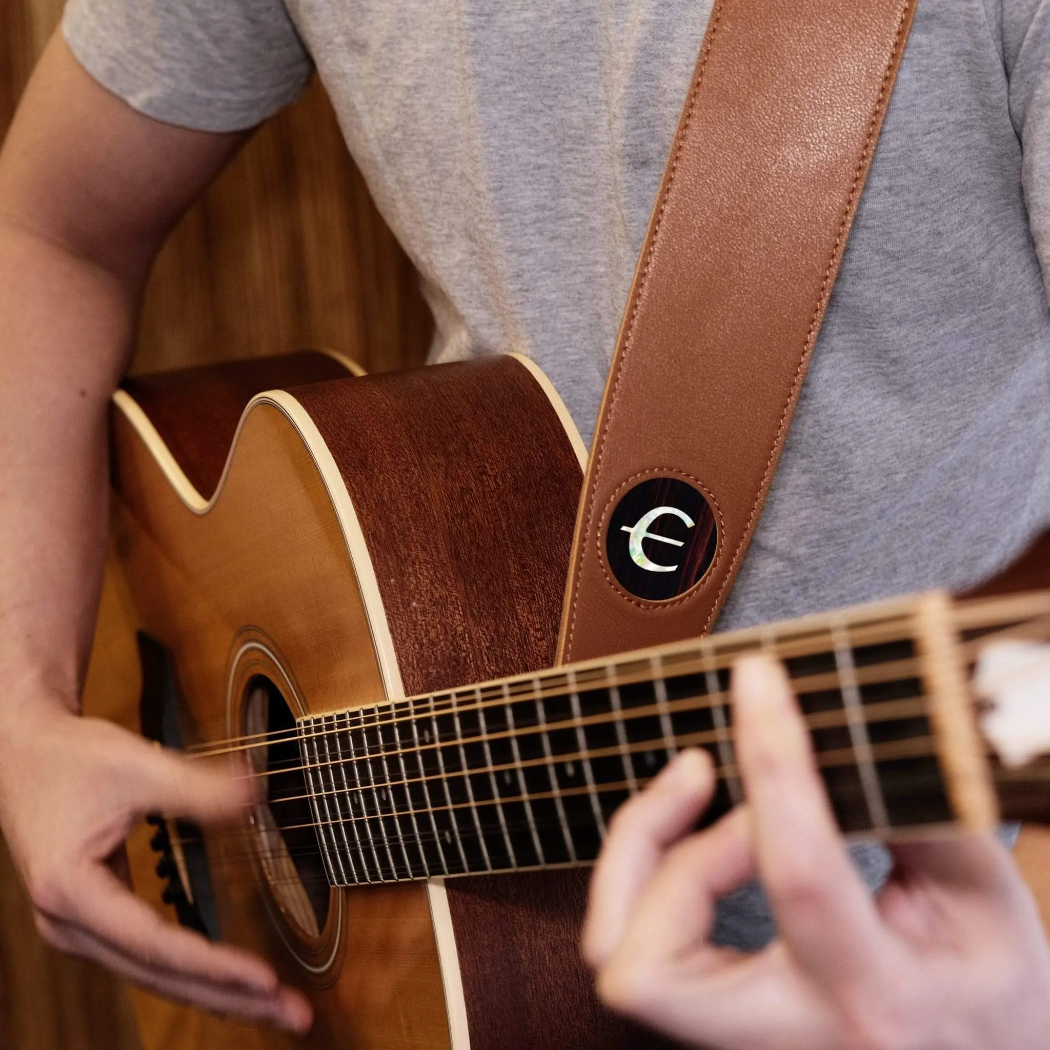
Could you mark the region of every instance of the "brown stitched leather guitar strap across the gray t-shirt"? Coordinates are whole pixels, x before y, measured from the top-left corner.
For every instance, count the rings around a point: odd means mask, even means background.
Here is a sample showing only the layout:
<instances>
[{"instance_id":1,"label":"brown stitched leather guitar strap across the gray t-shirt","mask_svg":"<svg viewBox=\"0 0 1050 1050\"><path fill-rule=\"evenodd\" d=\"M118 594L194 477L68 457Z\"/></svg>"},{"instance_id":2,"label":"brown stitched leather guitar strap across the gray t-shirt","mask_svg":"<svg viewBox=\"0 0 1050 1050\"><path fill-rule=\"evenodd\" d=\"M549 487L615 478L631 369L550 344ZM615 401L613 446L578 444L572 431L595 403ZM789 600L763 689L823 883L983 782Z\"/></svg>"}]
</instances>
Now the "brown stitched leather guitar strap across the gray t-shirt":
<instances>
[{"instance_id":1,"label":"brown stitched leather guitar strap across the gray t-shirt","mask_svg":"<svg viewBox=\"0 0 1050 1050\"><path fill-rule=\"evenodd\" d=\"M598 416L560 657L710 630L758 523L918 0L716 0Z\"/></svg>"}]
</instances>

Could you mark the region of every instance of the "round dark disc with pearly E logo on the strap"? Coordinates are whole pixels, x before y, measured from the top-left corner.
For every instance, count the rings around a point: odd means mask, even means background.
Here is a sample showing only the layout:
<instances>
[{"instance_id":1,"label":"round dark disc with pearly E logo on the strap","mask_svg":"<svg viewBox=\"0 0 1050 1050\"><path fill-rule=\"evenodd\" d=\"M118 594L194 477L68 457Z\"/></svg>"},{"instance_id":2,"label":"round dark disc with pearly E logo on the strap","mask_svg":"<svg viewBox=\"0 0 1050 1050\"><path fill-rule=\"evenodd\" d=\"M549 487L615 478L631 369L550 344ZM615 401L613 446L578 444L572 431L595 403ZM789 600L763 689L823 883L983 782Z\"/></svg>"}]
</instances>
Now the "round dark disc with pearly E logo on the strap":
<instances>
[{"instance_id":1,"label":"round dark disc with pearly E logo on the strap","mask_svg":"<svg viewBox=\"0 0 1050 1050\"><path fill-rule=\"evenodd\" d=\"M718 547L715 513L678 478L650 478L616 504L606 558L624 590L647 602L685 594L704 578Z\"/></svg>"}]
</instances>

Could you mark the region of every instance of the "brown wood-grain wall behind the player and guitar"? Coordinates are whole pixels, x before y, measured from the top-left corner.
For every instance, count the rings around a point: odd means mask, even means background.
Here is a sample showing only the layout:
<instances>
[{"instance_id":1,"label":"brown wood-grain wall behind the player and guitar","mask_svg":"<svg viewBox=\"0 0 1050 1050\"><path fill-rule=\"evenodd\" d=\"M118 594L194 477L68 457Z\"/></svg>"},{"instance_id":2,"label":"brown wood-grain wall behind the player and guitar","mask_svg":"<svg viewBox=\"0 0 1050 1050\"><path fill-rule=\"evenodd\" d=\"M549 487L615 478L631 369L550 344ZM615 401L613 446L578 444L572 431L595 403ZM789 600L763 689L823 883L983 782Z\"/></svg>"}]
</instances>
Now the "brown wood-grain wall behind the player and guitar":
<instances>
[{"instance_id":1,"label":"brown wood-grain wall behind the player and guitar","mask_svg":"<svg viewBox=\"0 0 1050 1050\"><path fill-rule=\"evenodd\" d=\"M0 138L61 10L62 0L0 0ZM255 135L165 247L133 369L328 346L378 372L422 363L432 332L412 264L373 206L314 84ZM92 692L104 702L104 688ZM142 1041L132 1003L147 1020ZM0 841L2 1050L264 1044L273 1041L129 993L98 968L48 949Z\"/></svg>"}]
</instances>

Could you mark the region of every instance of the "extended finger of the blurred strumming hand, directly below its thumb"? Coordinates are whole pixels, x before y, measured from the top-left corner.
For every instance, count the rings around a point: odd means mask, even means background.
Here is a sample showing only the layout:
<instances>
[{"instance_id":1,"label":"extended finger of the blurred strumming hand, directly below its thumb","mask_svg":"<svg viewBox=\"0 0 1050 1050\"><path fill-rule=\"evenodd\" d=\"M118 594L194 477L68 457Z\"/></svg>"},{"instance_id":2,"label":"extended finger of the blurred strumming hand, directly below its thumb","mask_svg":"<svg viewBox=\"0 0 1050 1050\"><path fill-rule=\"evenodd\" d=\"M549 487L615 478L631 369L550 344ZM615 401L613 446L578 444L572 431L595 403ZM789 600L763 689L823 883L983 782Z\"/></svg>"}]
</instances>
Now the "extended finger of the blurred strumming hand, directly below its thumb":
<instances>
[{"instance_id":1,"label":"extended finger of the blurred strumming hand, directly below its thumb","mask_svg":"<svg viewBox=\"0 0 1050 1050\"><path fill-rule=\"evenodd\" d=\"M89 930L143 967L257 994L272 994L277 988L277 974L261 959L231 945L212 944L200 933L165 922L104 865L80 873L77 892L69 895L66 903L61 909L40 910L48 919Z\"/></svg>"}]
</instances>

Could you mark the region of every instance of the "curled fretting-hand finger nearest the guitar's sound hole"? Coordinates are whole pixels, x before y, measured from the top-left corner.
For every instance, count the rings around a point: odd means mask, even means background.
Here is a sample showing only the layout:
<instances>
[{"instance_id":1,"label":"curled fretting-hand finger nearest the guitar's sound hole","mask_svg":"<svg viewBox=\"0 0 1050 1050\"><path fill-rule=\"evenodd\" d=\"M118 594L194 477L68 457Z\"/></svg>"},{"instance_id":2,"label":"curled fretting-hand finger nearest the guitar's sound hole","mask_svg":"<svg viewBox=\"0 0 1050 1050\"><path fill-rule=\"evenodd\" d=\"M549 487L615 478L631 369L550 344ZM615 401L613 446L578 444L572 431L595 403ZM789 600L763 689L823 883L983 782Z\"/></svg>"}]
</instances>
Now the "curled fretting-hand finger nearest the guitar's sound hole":
<instances>
[{"instance_id":1,"label":"curled fretting-hand finger nearest the guitar's sound hole","mask_svg":"<svg viewBox=\"0 0 1050 1050\"><path fill-rule=\"evenodd\" d=\"M667 847L696 824L715 774L706 752L684 751L640 794L616 811L591 877L582 950L592 967L613 951Z\"/></svg>"}]
</instances>

